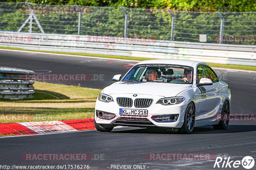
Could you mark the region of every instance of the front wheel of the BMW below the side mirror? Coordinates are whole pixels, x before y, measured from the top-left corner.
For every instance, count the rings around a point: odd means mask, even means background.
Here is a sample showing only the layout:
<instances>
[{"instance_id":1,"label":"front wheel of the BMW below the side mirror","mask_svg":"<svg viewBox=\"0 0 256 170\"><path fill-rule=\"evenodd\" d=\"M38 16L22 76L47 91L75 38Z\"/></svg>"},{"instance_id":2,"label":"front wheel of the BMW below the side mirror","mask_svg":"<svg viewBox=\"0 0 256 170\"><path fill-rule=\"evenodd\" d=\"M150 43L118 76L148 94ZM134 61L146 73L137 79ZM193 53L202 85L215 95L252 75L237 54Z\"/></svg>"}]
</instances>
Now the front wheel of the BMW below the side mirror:
<instances>
[{"instance_id":1,"label":"front wheel of the BMW below the side mirror","mask_svg":"<svg viewBox=\"0 0 256 170\"><path fill-rule=\"evenodd\" d=\"M190 134L194 130L195 126L195 106L192 102L188 104L184 115L184 123L179 129L180 133Z\"/></svg>"}]
</instances>

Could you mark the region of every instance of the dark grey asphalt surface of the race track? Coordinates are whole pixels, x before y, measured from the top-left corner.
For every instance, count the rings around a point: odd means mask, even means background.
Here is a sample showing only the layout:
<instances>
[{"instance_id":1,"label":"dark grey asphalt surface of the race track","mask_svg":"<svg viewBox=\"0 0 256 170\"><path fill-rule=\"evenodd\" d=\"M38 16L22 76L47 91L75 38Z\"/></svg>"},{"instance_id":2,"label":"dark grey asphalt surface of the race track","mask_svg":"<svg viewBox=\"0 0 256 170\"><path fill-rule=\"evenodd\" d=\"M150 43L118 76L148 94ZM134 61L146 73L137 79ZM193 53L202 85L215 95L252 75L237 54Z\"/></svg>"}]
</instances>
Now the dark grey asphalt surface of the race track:
<instances>
[{"instance_id":1,"label":"dark grey asphalt surface of the race track","mask_svg":"<svg viewBox=\"0 0 256 170\"><path fill-rule=\"evenodd\" d=\"M134 63L136 62L0 51L0 66L25 68L37 73L49 70L51 74L103 74L104 80L96 80L96 77L90 81L50 81L68 85L80 83L82 87L97 89L111 84L114 74L124 75ZM256 73L221 69L215 71L231 89L231 113L255 113ZM90 165L90 169L111 169L111 165L145 165L145 169L234 169L225 166L213 168L215 159L149 160L146 155L211 153L230 157L234 161L252 156L256 162L256 121L230 121L227 130L214 130L212 126L198 127L190 135L125 127L114 128L110 133L92 130L7 137L0 138L0 151L0 165L10 166L86 164ZM22 159L25 153L89 153L93 160L26 161ZM104 156L101 160L97 159L100 154ZM222 163L223 161L221 165ZM240 165L236 169L245 168ZM252 169L256 169L256 166Z\"/></svg>"}]
</instances>

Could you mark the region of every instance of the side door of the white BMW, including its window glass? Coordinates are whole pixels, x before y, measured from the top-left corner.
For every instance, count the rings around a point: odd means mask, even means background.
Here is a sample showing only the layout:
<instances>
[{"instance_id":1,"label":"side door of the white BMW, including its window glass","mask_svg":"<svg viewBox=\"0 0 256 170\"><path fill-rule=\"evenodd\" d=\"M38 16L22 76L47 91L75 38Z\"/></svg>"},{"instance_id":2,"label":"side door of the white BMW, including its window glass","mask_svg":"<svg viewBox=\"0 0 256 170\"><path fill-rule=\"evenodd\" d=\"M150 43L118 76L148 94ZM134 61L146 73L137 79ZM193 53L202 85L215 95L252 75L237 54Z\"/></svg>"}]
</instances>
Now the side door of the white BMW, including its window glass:
<instances>
[{"instance_id":1,"label":"side door of the white BMW, including its window glass","mask_svg":"<svg viewBox=\"0 0 256 170\"><path fill-rule=\"evenodd\" d=\"M207 66L205 65L199 65L196 73L197 83L199 83L201 78L210 78L207 71ZM216 108L216 89L214 89L214 85L198 86L198 88L200 89L201 94L199 94L200 109L196 117L196 121L212 119L215 117L218 111L216 110L218 109Z\"/></svg>"}]
</instances>

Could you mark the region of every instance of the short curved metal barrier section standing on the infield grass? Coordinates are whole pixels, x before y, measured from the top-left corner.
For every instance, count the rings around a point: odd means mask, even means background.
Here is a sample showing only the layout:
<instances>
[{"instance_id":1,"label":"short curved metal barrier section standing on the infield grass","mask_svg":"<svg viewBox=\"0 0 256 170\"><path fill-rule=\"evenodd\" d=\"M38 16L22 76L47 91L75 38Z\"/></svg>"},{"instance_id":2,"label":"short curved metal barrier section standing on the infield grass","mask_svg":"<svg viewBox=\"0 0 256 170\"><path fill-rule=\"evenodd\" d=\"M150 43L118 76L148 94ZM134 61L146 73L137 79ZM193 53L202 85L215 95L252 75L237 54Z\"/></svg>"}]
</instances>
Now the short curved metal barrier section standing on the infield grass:
<instances>
[{"instance_id":1,"label":"short curved metal barrier section standing on the infield grass","mask_svg":"<svg viewBox=\"0 0 256 170\"><path fill-rule=\"evenodd\" d=\"M33 98L34 74L35 72L30 70L0 67L0 98Z\"/></svg>"}]
</instances>

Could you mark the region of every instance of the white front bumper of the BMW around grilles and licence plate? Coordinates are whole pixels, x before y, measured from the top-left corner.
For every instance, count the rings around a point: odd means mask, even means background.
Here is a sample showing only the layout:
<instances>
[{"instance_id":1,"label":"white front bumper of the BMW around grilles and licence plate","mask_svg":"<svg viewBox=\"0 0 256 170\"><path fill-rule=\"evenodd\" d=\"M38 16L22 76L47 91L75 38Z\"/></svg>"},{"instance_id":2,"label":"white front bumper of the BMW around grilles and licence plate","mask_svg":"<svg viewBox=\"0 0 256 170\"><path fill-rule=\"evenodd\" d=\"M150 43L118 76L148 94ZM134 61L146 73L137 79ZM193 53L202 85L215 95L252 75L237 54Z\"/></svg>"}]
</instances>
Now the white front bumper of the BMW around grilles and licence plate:
<instances>
[{"instance_id":1,"label":"white front bumper of the BMW around grilles and licence plate","mask_svg":"<svg viewBox=\"0 0 256 170\"><path fill-rule=\"evenodd\" d=\"M135 100L138 97L131 97L131 94L127 95L111 95L114 99L114 102L102 102L97 99L95 104L95 121L98 124L112 124L112 125L123 125L123 126L134 126L134 127L162 127L162 128L181 128L184 122L184 114L187 106L187 101L183 101L180 104L175 105L162 105L160 103L156 103L159 99L163 98L163 96L151 96L151 95L140 95L140 98L153 98L153 103L148 108L136 108L134 105L130 108L121 107L116 102L116 97L127 97ZM120 109L143 109L148 110L147 117L139 117L139 116L124 116L120 115ZM96 110L113 113L116 115L111 120L100 119L96 116ZM175 122L156 122L151 117L155 115L170 115L177 114L179 115ZM121 119L121 120L120 120Z\"/></svg>"}]
</instances>

